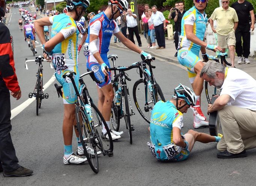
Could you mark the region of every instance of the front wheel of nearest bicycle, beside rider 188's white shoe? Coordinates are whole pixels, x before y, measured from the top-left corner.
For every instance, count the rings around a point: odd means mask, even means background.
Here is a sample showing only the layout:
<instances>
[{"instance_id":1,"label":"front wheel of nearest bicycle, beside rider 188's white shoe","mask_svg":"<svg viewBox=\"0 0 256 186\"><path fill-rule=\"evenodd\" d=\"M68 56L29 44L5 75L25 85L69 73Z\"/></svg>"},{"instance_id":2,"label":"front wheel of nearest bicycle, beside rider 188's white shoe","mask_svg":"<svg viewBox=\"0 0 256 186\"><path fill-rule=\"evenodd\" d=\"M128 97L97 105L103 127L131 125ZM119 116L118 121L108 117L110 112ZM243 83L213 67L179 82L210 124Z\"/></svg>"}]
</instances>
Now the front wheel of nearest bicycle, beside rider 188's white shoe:
<instances>
[{"instance_id":1,"label":"front wheel of nearest bicycle, beside rider 188's white shoe","mask_svg":"<svg viewBox=\"0 0 256 186\"><path fill-rule=\"evenodd\" d=\"M77 106L75 108L75 118L77 120L78 133L84 149L84 155L86 156L87 161L90 167L92 168L92 171L95 173L98 173L99 160L98 160L98 155L96 151L95 139L94 139L94 136L92 135L92 129L90 127L87 116L86 114L84 114L84 111L80 108L80 106ZM85 140L84 140L84 137L85 137ZM87 152L86 146L93 150L94 155L90 155Z\"/></svg>"}]
</instances>

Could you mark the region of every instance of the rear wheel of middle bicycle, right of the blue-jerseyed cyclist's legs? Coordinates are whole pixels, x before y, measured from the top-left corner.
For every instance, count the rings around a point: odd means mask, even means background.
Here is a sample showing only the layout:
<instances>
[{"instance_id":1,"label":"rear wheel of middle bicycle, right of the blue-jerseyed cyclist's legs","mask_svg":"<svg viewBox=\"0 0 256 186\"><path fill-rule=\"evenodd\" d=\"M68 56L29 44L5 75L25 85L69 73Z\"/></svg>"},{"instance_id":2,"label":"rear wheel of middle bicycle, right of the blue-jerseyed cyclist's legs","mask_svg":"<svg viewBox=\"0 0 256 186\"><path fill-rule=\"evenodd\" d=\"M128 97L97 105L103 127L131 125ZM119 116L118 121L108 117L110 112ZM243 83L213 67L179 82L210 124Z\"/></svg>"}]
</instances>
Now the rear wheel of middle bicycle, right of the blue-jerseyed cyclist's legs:
<instances>
[{"instance_id":1,"label":"rear wheel of middle bicycle, right of the blue-jerseyed cyclist's legs","mask_svg":"<svg viewBox=\"0 0 256 186\"><path fill-rule=\"evenodd\" d=\"M112 107L111 107L111 124L113 126L114 131L119 131L120 127L120 106L116 105L117 99L116 99L116 91L119 89L119 77L120 75L117 74L113 81L113 90L114 90L114 99L112 101Z\"/></svg>"}]
</instances>

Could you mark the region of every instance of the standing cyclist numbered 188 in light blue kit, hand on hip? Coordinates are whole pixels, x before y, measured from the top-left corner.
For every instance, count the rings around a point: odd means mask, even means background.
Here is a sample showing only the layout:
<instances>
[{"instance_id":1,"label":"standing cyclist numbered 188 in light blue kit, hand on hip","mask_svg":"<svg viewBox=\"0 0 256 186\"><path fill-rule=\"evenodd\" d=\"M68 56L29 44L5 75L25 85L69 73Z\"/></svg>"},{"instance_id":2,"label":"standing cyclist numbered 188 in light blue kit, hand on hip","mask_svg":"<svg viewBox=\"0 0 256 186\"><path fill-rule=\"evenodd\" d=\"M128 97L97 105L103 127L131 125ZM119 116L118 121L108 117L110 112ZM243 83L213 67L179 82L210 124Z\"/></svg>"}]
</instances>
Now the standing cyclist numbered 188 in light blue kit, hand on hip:
<instances>
[{"instance_id":1,"label":"standing cyclist numbered 188 in light blue kit, hand on hip","mask_svg":"<svg viewBox=\"0 0 256 186\"><path fill-rule=\"evenodd\" d=\"M73 125L76 125L75 102L77 97L71 80L69 78L64 79L62 75L69 71L76 72L74 80L78 89L77 41L79 31L75 21L80 20L89 4L89 0L67 0L68 12L66 14L62 13L35 21L36 32L44 47L44 57L47 58L46 54L51 56L55 68L55 77L63 86L64 118L62 130L65 149L63 162L65 165L80 164L87 160L84 156L75 155L72 150ZM51 39L45 42L44 26L49 25L52 25ZM75 130L75 133L77 140L79 140L77 130ZM91 152L91 149L86 150ZM77 154L78 152L83 153L81 143L78 143Z\"/></svg>"}]
</instances>

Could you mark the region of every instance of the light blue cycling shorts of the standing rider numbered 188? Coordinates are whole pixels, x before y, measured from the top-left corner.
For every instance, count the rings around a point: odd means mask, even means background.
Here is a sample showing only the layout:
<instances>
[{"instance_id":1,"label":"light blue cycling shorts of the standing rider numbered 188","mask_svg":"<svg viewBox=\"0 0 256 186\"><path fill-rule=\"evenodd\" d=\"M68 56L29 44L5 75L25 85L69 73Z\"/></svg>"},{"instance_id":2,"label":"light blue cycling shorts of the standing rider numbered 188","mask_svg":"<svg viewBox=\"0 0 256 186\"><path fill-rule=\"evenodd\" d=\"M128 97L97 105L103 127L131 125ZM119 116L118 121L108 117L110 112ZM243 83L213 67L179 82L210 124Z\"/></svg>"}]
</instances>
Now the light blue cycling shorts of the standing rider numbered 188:
<instances>
[{"instance_id":1,"label":"light blue cycling shorts of the standing rider numbered 188","mask_svg":"<svg viewBox=\"0 0 256 186\"><path fill-rule=\"evenodd\" d=\"M70 78L63 78L62 75L74 71L76 75L74 75L75 84L77 86L77 89L79 90L79 72L78 72L78 66L69 67L65 70L59 70L55 72L55 77L57 81L63 86L62 90L62 98L64 104L74 104L77 101L77 96L75 95L75 89L74 86L70 80Z\"/></svg>"}]
</instances>

